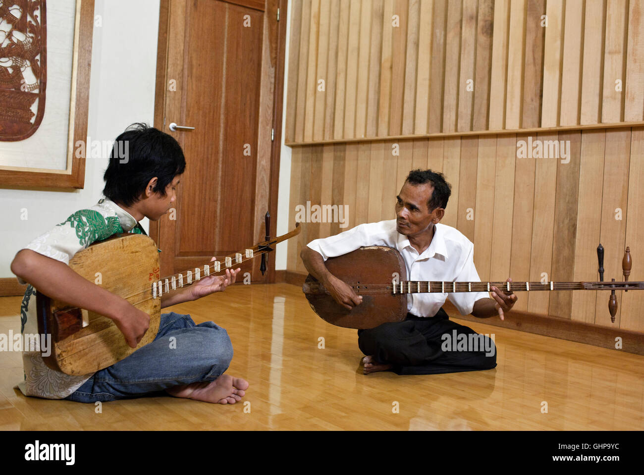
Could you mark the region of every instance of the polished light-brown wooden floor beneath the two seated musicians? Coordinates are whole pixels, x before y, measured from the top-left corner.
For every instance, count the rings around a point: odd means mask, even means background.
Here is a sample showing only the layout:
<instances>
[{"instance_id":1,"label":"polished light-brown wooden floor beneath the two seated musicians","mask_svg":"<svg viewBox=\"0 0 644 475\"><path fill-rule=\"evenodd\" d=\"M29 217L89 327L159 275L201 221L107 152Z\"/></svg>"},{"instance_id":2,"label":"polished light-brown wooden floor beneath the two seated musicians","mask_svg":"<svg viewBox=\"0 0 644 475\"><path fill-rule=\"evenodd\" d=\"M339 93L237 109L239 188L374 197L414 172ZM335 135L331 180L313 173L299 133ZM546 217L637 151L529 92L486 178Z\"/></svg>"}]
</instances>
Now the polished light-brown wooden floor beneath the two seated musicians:
<instances>
[{"instance_id":1,"label":"polished light-brown wooden floor beneath the two seated musicians","mask_svg":"<svg viewBox=\"0 0 644 475\"><path fill-rule=\"evenodd\" d=\"M0 299L0 333L19 332L20 301ZM104 403L96 413L92 404L23 396L14 389L23 378L21 356L3 351L0 429L644 428L644 357L630 353L455 319L495 333L497 368L364 376L356 331L319 319L297 286L237 284L171 310L228 330L228 373L250 382L243 399L250 405L165 396Z\"/></svg>"}]
</instances>

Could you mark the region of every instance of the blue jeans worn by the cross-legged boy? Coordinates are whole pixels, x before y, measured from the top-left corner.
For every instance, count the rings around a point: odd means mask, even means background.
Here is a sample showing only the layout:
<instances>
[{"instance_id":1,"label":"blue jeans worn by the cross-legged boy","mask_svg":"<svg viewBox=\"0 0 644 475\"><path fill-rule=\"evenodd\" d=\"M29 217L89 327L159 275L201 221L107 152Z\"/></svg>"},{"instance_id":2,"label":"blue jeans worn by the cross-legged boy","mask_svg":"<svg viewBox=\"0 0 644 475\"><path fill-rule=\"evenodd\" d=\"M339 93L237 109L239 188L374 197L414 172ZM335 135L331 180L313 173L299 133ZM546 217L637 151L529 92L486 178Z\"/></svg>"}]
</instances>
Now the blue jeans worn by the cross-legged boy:
<instances>
[{"instance_id":1,"label":"blue jeans worn by the cross-legged boy","mask_svg":"<svg viewBox=\"0 0 644 475\"><path fill-rule=\"evenodd\" d=\"M97 371L66 399L105 402L213 381L231 360L231 339L222 327L214 322L196 325L190 315L164 313L154 341Z\"/></svg>"}]
</instances>

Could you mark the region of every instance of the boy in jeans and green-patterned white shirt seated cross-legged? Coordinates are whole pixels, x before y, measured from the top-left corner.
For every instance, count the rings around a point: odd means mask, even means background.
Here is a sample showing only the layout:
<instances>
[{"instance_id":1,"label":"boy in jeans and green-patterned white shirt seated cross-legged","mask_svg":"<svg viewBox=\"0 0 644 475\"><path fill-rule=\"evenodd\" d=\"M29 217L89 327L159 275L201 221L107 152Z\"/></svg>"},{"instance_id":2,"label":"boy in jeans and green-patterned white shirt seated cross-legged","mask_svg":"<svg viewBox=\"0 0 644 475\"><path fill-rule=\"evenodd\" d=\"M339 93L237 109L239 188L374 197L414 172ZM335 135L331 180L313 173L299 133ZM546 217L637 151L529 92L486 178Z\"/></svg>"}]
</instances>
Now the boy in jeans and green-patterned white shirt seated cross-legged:
<instances>
[{"instance_id":1,"label":"boy in jeans and green-patterned white shirt seated cross-legged","mask_svg":"<svg viewBox=\"0 0 644 475\"><path fill-rule=\"evenodd\" d=\"M124 149L125 157L117 153ZM138 221L144 217L158 221L169 211L184 170L184 153L172 136L143 124L135 124L118 136L104 175L106 199L75 212L34 239L12 262L12 272L23 283L30 283L21 305L23 334L38 333L35 293L43 292L108 317L128 345L136 348L149 327L149 315L84 279L68 263L95 241L122 232L144 233ZM117 261L123 258L114 256ZM239 268L227 269L225 277L211 275L178 292L164 293L161 306L223 292L235 282L238 272ZM173 337L174 345L169 344ZM249 384L223 374L231 359L231 340L223 328L214 322L196 325L190 315L165 313L155 340L93 374L71 376L54 371L44 364L41 352L23 351L24 381L19 388L27 396L88 403L165 391L180 398L234 404Z\"/></svg>"}]
</instances>

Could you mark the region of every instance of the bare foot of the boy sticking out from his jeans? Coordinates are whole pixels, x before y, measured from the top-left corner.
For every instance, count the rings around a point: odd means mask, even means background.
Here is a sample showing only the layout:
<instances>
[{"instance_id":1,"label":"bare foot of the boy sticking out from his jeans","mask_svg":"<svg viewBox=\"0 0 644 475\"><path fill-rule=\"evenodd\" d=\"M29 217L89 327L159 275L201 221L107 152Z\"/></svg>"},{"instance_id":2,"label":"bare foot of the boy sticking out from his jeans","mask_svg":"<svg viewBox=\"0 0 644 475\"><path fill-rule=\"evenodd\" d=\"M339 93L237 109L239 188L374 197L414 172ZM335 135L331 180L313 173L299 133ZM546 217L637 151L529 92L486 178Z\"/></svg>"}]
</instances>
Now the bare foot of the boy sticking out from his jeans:
<instances>
[{"instance_id":1,"label":"bare foot of the boy sticking out from his jeans","mask_svg":"<svg viewBox=\"0 0 644 475\"><path fill-rule=\"evenodd\" d=\"M242 400L248 387L248 382L242 378L221 375L214 381L169 387L166 389L166 393L176 398L188 398L218 404L235 404Z\"/></svg>"}]
</instances>

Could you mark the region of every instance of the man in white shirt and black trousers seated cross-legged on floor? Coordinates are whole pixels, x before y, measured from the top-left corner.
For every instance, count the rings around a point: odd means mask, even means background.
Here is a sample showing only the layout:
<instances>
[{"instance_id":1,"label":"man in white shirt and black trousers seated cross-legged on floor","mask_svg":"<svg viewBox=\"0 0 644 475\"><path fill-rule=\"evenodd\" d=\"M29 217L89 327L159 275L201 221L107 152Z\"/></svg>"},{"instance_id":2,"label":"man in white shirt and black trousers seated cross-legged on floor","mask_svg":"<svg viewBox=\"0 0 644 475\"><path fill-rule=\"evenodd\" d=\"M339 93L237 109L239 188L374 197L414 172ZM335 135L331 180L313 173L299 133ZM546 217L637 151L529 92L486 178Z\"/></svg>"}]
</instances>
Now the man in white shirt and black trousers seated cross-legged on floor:
<instances>
[{"instance_id":1,"label":"man in white shirt and black trousers seated cross-legged on floor","mask_svg":"<svg viewBox=\"0 0 644 475\"><path fill-rule=\"evenodd\" d=\"M397 249L412 281L480 282L471 241L455 228L439 223L450 194L450 185L442 174L411 171L396 197L396 219L362 224L336 236L311 241L301 252L304 265L336 302L349 310L361 304L363 297L332 275L325 261L360 247ZM471 313L479 318L498 315L503 320L517 297L495 286L490 290L492 299L486 292L409 293L409 313L404 321L358 330L358 346L366 355L365 375L388 370L399 375L427 375L495 368L496 348L487 336L485 349L459 345L460 351L453 351L455 346L444 344L454 337L467 341L470 335L482 335L450 321L441 308L449 298L462 315Z\"/></svg>"}]
</instances>

